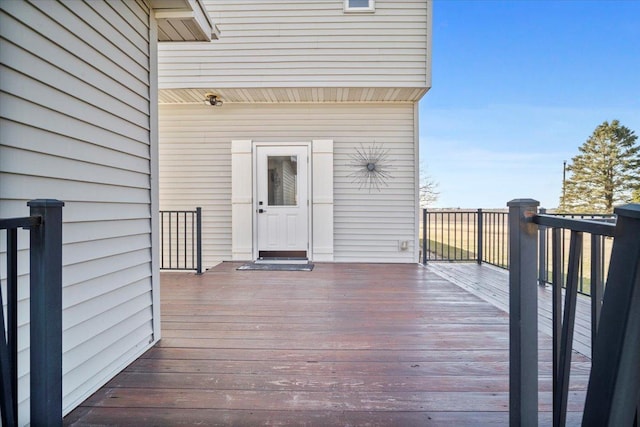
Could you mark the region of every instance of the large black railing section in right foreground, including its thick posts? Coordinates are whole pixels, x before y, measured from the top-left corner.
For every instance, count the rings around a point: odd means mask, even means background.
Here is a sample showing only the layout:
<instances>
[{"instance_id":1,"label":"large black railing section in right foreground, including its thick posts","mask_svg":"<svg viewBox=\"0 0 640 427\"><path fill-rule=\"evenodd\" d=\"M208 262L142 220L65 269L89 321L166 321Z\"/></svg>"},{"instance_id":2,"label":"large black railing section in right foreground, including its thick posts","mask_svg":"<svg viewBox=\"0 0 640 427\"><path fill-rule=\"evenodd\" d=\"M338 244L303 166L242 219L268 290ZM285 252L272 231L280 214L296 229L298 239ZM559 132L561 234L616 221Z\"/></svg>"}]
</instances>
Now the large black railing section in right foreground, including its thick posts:
<instances>
[{"instance_id":1,"label":"large black railing section in right foreground, including its thick posts","mask_svg":"<svg viewBox=\"0 0 640 427\"><path fill-rule=\"evenodd\" d=\"M640 393L640 205L617 208L616 223L537 213L509 202L510 423L538 425L539 228L551 230L553 263L553 425L564 426L584 234L614 237L607 286L592 289L592 369L583 425L637 423ZM570 230L562 274L562 230ZM593 267L598 269L599 267ZM564 302L562 288L566 288Z\"/></svg>"}]
</instances>

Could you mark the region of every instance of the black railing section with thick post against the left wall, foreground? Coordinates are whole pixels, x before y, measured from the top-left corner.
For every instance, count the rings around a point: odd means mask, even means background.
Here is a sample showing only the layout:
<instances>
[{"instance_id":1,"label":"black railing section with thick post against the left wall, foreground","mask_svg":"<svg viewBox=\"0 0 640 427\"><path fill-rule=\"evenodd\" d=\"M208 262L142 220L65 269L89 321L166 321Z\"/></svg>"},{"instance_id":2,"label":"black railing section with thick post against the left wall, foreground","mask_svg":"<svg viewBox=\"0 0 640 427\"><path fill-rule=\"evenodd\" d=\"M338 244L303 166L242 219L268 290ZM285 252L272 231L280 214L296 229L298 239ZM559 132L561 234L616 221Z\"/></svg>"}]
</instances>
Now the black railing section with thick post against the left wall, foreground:
<instances>
[{"instance_id":1,"label":"black railing section with thick post against the left wall, foreground","mask_svg":"<svg viewBox=\"0 0 640 427\"><path fill-rule=\"evenodd\" d=\"M7 234L7 325L0 313L0 412L18 425L18 229L30 231L31 425L62 425L62 207L28 203L30 216L0 219ZM4 307L0 293L0 307ZM6 335L5 335L6 331ZM25 424L21 422L21 424Z\"/></svg>"}]
</instances>

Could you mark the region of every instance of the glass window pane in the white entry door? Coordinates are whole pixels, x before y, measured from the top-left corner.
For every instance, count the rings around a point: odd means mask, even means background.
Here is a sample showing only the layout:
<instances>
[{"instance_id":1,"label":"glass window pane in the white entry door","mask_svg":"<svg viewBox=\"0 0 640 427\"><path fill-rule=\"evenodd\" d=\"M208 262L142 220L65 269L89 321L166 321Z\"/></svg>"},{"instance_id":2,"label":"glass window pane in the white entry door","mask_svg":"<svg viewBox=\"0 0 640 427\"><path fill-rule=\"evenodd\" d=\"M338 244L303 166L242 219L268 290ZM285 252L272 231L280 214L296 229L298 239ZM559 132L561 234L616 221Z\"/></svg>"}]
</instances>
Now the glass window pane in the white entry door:
<instances>
[{"instance_id":1,"label":"glass window pane in the white entry door","mask_svg":"<svg viewBox=\"0 0 640 427\"><path fill-rule=\"evenodd\" d=\"M268 157L269 206L298 204L298 157Z\"/></svg>"}]
</instances>

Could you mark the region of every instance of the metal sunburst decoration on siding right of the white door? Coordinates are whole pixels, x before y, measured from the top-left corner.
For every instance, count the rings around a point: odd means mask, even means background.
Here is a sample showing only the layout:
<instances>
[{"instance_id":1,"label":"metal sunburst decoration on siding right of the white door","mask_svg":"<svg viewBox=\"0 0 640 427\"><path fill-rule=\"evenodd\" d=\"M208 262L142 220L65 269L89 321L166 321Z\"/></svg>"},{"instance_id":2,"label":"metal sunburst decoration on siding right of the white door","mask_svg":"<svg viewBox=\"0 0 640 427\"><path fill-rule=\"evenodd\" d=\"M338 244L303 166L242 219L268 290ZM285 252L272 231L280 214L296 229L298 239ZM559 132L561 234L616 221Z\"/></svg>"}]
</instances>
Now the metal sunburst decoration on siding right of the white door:
<instances>
[{"instance_id":1,"label":"metal sunburst decoration on siding right of the white door","mask_svg":"<svg viewBox=\"0 0 640 427\"><path fill-rule=\"evenodd\" d=\"M349 155L349 166L355 170L348 177L352 179L351 182L359 185L358 190L368 187L369 193L374 188L380 191L380 187L388 187L387 181L393 178L389 173L392 167L388 157L389 150L385 150L382 144L373 143L367 148L360 144L356 152Z\"/></svg>"}]
</instances>

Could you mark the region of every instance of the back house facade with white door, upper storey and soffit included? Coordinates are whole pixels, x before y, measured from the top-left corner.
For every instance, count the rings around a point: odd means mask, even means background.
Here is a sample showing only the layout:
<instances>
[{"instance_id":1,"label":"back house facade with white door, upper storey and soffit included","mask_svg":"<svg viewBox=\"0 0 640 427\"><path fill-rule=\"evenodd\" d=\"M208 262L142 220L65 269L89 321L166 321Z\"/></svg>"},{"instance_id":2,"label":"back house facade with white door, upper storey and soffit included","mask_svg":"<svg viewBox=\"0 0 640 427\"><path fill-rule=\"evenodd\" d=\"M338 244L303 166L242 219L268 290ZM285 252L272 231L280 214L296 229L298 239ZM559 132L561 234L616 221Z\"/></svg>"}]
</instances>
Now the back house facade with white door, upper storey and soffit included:
<instances>
[{"instance_id":1,"label":"back house facade with white door, upper storey and soffit included","mask_svg":"<svg viewBox=\"0 0 640 427\"><path fill-rule=\"evenodd\" d=\"M218 40L159 45L160 208L202 207L205 267L417 262L431 2L205 6Z\"/></svg>"}]
</instances>

